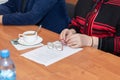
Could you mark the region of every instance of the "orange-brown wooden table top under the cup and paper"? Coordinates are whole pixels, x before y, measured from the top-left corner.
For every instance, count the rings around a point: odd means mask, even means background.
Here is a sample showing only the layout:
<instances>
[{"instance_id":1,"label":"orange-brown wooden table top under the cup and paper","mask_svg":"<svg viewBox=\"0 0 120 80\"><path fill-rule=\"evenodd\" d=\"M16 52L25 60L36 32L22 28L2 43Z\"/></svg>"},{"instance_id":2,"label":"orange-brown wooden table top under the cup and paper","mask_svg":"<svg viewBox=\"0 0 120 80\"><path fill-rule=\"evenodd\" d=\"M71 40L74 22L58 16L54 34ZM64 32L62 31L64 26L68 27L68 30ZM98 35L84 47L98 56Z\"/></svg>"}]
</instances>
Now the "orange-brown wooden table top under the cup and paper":
<instances>
[{"instance_id":1,"label":"orange-brown wooden table top under the cup and paper","mask_svg":"<svg viewBox=\"0 0 120 80\"><path fill-rule=\"evenodd\" d=\"M19 33L36 28L0 26L0 50L10 50L16 65L17 80L120 80L120 58L90 47L47 67L21 57L20 54L32 49L18 51L10 40L17 38ZM44 39L44 44L59 37L43 28L39 35Z\"/></svg>"}]
</instances>

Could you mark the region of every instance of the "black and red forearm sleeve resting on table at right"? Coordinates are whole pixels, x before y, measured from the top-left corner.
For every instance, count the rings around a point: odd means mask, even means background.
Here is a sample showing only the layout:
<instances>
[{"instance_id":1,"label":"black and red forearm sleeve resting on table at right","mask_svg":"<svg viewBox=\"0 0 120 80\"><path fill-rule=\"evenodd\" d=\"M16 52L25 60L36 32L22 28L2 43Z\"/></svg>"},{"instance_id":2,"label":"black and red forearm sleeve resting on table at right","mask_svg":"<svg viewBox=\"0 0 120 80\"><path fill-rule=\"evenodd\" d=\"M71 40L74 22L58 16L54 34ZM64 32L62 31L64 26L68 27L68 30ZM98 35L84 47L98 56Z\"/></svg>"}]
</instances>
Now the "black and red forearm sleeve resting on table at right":
<instances>
[{"instance_id":1,"label":"black and red forearm sleeve resting on table at right","mask_svg":"<svg viewBox=\"0 0 120 80\"><path fill-rule=\"evenodd\" d=\"M120 56L120 20L116 26L115 37L100 38L98 48Z\"/></svg>"}]
</instances>

